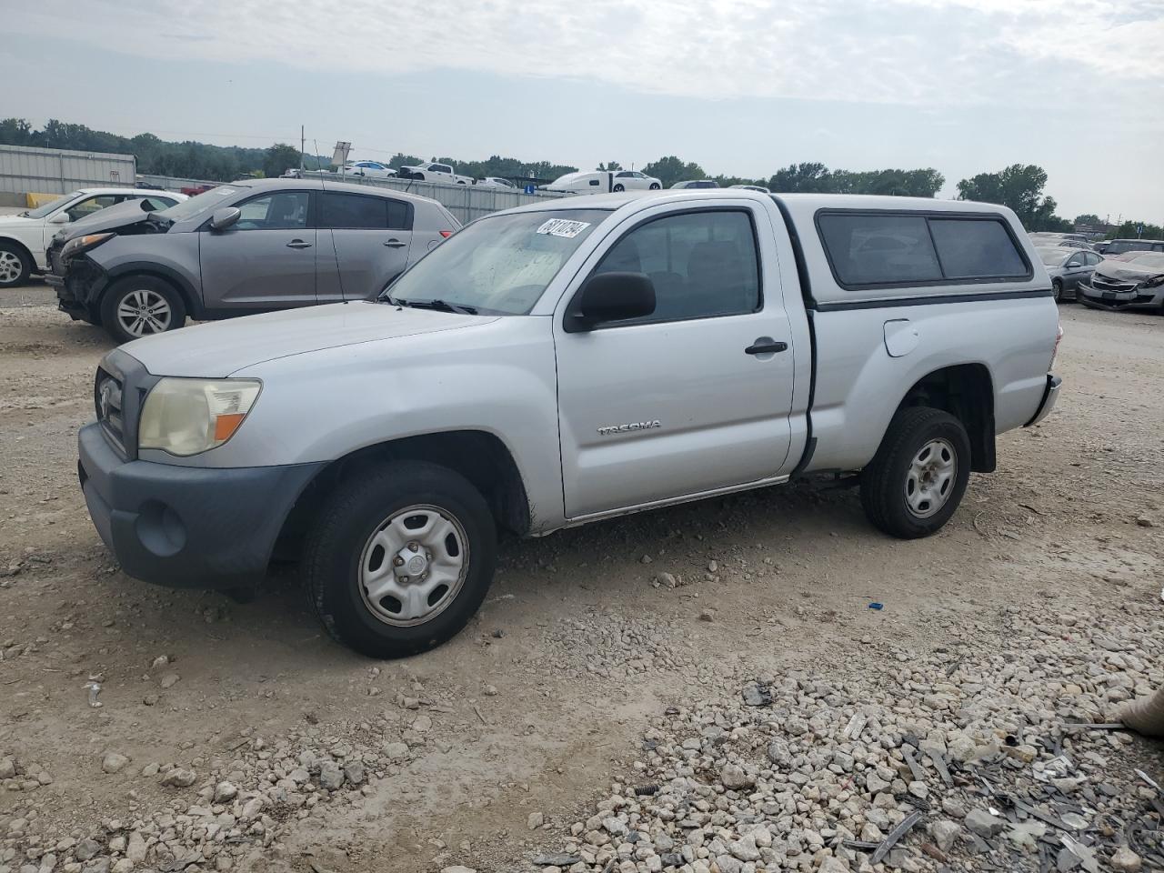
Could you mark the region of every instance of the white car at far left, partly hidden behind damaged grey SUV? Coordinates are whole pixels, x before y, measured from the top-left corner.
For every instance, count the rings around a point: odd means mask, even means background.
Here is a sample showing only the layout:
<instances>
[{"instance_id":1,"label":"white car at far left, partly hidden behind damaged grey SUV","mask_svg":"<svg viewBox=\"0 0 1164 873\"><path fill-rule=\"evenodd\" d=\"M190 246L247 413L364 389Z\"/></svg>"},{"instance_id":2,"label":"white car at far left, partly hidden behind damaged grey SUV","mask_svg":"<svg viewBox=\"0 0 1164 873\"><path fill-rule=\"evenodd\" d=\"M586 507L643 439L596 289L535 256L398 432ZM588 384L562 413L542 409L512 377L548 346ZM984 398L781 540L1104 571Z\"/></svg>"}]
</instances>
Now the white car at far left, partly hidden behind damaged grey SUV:
<instances>
[{"instance_id":1,"label":"white car at far left, partly hidden behind damaged grey SUV","mask_svg":"<svg viewBox=\"0 0 1164 873\"><path fill-rule=\"evenodd\" d=\"M149 200L155 210L168 210L185 194L134 187L83 187L52 203L0 217L0 288L28 281L29 274L45 272L45 250L65 225L126 200Z\"/></svg>"}]
</instances>

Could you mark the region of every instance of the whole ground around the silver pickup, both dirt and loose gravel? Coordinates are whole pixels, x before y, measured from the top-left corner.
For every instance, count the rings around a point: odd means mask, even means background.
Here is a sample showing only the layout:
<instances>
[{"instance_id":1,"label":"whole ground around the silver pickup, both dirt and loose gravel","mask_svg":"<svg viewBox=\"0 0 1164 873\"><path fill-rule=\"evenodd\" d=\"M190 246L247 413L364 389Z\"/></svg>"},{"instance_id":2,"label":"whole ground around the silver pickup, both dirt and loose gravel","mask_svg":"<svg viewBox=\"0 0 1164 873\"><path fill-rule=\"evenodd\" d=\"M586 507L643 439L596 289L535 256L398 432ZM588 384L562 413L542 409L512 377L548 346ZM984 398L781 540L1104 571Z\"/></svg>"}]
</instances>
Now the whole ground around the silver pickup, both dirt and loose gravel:
<instances>
[{"instance_id":1,"label":"whole ground around the silver pickup, both dirt and loose gravel","mask_svg":"<svg viewBox=\"0 0 1164 873\"><path fill-rule=\"evenodd\" d=\"M567 531L372 662L290 569L121 574L74 473L108 341L0 292L0 873L1158 867L1164 746L1073 725L1164 681L1164 318L1062 312L1059 409L937 537L826 481Z\"/></svg>"}]
</instances>

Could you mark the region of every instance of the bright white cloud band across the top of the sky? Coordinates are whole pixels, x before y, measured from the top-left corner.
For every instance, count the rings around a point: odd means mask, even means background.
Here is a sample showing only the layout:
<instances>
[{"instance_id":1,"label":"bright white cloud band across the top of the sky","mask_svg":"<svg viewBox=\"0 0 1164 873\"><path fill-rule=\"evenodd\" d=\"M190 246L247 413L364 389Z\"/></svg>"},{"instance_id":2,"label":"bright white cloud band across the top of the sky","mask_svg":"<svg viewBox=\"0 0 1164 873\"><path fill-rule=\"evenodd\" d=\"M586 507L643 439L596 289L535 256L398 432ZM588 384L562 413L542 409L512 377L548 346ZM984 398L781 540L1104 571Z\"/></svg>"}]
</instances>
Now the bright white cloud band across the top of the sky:
<instances>
[{"instance_id":1,"label":"bright white cloud band across the top of the sky","mask_svg":"<svg viewBox=\"0 0 1164 873\"><path fill-rule=\"evenodd\" d=\"M1098 77L1158 93L1164 79L1159 0L41 0L5 19L179 62L489 72L704 99L950 105L1098 88Z\"/></svg>"}]
</instances>

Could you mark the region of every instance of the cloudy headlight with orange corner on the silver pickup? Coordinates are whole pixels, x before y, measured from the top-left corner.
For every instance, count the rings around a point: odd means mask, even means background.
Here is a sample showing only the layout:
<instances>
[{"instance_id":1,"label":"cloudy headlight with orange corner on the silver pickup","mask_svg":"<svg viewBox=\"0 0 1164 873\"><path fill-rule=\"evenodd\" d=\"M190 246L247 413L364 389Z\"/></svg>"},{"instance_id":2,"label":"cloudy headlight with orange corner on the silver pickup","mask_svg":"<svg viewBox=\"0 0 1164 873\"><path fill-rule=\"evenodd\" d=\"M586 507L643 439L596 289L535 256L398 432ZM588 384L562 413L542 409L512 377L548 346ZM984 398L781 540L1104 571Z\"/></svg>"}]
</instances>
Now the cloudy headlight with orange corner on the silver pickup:
<instances>
[{"instance_id":1,"label":"cloudy headlight with orange corner on the silver pickup","mask_svg":"<svg viewBox=\"0 0 1164 873\"><path fill-rule=\"evenodd\" d=\"M163 378L146 396L139 448L197 455L221 446L255 405L256 379Z\"/></svg>"}]
</instances>

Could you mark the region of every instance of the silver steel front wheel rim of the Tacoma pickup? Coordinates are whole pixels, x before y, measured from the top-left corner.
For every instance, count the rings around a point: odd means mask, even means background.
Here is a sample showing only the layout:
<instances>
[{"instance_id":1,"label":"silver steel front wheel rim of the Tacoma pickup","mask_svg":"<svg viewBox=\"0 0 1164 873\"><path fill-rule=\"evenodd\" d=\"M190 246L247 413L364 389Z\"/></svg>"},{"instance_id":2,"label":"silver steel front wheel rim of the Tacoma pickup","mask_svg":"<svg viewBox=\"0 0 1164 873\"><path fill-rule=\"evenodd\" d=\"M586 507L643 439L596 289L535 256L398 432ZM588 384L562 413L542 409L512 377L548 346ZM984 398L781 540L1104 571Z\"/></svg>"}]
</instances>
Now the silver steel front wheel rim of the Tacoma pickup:
<instances>
[{"instance_id":1,"label":"silver steel front wheel rim of the Tacoma pickup","mask_svg":"<svg viewBox=\"0 0 1164 873\"><path fill-rule=\"evenodd\" d=\"M385 518L360 553L364 606L393 627L431 622L456 599L469 570L469 538L457 518L426 504Z\"/></svg>"}]
</instances>

